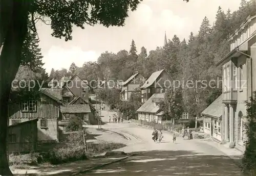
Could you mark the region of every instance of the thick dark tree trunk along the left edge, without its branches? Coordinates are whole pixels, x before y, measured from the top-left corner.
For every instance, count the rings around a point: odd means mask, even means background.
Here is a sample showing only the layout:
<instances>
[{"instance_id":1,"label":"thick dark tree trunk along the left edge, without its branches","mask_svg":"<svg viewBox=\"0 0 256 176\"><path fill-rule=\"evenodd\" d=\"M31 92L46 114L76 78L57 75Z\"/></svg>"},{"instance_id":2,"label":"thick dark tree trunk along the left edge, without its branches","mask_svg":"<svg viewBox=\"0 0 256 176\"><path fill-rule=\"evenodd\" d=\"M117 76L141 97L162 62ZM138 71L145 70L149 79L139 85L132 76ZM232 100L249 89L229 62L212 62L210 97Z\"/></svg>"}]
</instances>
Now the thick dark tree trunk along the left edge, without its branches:
<instances>
[{"instance_id":1,"label":"thick dark tree trunk along the left edge, without its branches","mask_svg":"<svg viewBox=\"0 0 256 176\"><path fill-rule=\"evenodd\" d=\"M5 24L0 24L8 28L6 34L0 34L4 38L0 55L0 175L12 175L7 158L8 100L11 83L20 64L22 46L27 34L27 9L28 3L30 3L30 1L8 1L10 12L6 14L10 16L4 14L1 16L1 22L3 21L2 18L10 20L5 21ZM2 8L3 6L0 7L1 12Z\"/></svg>"}]
</instances>

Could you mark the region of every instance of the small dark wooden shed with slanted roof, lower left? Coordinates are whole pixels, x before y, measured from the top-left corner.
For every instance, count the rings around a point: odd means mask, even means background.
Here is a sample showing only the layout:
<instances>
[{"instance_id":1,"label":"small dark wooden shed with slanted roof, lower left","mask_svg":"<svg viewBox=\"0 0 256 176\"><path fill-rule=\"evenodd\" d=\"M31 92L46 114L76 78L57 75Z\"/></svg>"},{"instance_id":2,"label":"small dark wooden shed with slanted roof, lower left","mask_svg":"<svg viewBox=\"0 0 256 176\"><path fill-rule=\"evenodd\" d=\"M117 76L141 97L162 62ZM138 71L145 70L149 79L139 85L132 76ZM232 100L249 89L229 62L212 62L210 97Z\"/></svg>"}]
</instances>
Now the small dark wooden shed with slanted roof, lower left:
<instances>
[{"instance_id":1,"label":"small dark wooden shed with slanted roof, lower left","mask_svg":"<svg viewBox=\"0 0 256 176\"><path fill-rule=\"evenodd\" d=\"M31 152L37 147L38 119L15 123L8 127L8 152Z\"/></svg>"}]
</instances>

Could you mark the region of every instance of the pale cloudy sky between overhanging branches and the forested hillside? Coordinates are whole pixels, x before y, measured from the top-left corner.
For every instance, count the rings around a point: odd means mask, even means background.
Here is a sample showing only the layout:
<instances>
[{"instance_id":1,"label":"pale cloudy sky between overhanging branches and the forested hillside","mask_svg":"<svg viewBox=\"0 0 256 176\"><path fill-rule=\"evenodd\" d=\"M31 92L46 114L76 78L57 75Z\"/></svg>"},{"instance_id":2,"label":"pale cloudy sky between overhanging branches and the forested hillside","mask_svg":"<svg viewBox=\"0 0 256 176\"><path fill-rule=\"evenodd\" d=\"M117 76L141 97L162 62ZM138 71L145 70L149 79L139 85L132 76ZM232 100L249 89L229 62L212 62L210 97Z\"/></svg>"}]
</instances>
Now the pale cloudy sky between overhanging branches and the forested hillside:
<instances>
[{"instance_id":1,"label":"pale cloudy sky between overhanging branches and the forested hillside","mask_svg":"<svg viewBox=\"0 0 256 176\"><path fill-rule=\"evenodd\" d=\"M237 10L240 0L144 0L134 12L129 12L124 27L105 28L101 25L73 28L73 39L66 42L51 36L50 26L37 23L40 39L39 46L44 56L44 68L50 73L55 70L69 69L72 62L81 67L84 62L97 61L105 51L117 53L121 49L129 51L132 39L138 53L144 46L147 52L162 46L164 32L167 39L177 35L187 40L190 32L198 34L200 24L207 16L213 24L218 7Z\"/></svg>"}]
</instances>

